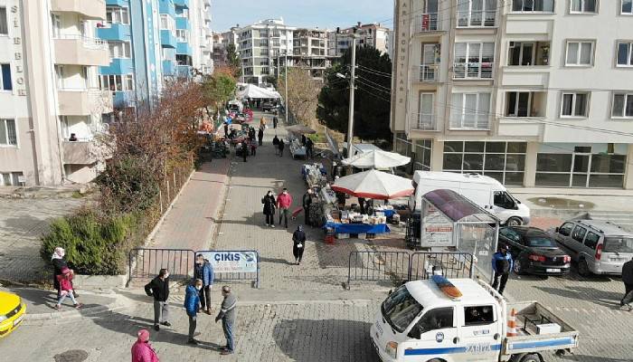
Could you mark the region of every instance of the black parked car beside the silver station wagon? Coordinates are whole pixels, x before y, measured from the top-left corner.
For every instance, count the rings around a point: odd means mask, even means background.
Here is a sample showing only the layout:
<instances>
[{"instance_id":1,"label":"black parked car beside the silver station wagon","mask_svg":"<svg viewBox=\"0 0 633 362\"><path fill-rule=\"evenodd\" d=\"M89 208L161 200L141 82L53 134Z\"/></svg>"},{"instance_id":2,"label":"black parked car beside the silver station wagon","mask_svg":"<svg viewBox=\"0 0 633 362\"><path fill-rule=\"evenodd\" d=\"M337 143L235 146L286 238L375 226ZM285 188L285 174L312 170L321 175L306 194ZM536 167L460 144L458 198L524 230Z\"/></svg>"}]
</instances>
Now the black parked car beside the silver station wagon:
<instances>
[{"instance_id":1,"label":"black parked car beside the silver station wagon","mask_svg":"<svg viewBox=\"0 0 633 362\"><path fill-rule=\"evenodd\" d=\"M572 257L541 229L502 227L499 229L499 244L507 245L514 259L516 274L565 275L570 272Z\"/></svg>"}]
</instances>

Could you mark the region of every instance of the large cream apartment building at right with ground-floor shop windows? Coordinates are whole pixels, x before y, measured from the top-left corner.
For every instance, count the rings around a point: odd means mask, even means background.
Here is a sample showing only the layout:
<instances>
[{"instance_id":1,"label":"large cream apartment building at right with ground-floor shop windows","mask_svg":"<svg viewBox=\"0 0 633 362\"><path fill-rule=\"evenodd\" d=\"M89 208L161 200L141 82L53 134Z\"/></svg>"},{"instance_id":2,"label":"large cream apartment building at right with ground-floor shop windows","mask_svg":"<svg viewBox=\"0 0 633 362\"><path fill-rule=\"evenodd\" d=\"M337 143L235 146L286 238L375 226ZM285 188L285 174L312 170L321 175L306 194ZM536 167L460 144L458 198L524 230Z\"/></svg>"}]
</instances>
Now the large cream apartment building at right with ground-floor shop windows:
<instances>
[{"instance_id":1,"label":"large cream apartment building at right with ground-floor shop windows","mask_svg":"<svg viewBox=\"0 0 633 362\"><path fill-rule=\"evenodd\" d=\"M391 128L415 169L633 188L632 0L396 0Z\"/></svg>"}]
</instances>

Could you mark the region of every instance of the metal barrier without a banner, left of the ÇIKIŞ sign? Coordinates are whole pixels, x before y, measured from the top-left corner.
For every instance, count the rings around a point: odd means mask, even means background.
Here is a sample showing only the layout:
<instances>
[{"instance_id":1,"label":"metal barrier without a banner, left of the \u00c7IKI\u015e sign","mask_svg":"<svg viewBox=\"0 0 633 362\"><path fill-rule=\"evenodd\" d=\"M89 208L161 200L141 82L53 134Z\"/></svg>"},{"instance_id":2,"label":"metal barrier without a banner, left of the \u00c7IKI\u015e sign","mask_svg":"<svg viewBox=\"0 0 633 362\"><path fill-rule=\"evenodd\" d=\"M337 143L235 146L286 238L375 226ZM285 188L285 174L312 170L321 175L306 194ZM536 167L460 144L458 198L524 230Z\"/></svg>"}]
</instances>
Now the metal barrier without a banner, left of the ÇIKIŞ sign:
<instances>
[{"instance_id":1,"label":"metal barrier without a banner, left of the \u00c7IKI\u015e sign","mask_svg":"<svg viewBox=\"0 0 633 362\"><path fill-rule=\"evenodd\" d=\"M194 251L189 249L132 249L129 252L129 279L154 278L167 269L172 278L187 279L194 270Z\"/></svg>"}]
</instances>

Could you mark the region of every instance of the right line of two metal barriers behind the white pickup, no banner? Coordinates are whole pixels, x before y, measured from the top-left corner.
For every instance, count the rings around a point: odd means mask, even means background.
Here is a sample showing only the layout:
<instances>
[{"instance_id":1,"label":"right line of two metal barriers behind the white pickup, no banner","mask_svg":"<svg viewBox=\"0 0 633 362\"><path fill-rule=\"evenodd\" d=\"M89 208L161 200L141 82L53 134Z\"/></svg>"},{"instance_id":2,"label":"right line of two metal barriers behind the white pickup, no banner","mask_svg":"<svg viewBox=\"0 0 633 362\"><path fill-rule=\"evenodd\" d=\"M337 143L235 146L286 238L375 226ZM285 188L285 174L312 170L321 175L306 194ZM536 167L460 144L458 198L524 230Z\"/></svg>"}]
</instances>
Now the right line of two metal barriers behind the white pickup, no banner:
<instances>
[{"instance_id":1,"label":"right line of two metal barriers behind the white pickup, no banner","mask_svg":"<svg viewBox=\"0 0 633 362\"><path fill-rule=\"evenodd\" d=\"M350 252L347 289L352 281L405 282L429 279L433 273L472 278L473 260L466 252Z\"/></svg>"}]
</instances>

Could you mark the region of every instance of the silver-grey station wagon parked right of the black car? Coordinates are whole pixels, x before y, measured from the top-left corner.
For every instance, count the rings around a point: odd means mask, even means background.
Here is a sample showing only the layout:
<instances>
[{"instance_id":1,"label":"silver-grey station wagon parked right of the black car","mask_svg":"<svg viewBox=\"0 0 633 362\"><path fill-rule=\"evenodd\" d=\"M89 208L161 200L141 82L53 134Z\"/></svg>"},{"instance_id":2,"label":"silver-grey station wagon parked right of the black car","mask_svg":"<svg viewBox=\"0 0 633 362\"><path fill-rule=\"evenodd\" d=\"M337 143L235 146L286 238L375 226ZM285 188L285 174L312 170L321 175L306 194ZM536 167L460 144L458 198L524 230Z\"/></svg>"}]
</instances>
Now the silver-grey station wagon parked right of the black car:
<instances>
[{"instance_id":1,"label":"silver-grey station wagon parked right of the black car","mask_svg":"<svg viewBox=\"0 0 633 362\"><path fill-rule=\"evenodd\" d=\"M598 220L570 220L550 232L554 240L578 262L578 273L622 274L633 257L633 233L617 224Z\"/></svg>"}]
</instances>

